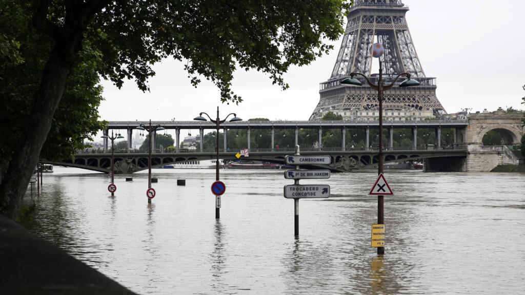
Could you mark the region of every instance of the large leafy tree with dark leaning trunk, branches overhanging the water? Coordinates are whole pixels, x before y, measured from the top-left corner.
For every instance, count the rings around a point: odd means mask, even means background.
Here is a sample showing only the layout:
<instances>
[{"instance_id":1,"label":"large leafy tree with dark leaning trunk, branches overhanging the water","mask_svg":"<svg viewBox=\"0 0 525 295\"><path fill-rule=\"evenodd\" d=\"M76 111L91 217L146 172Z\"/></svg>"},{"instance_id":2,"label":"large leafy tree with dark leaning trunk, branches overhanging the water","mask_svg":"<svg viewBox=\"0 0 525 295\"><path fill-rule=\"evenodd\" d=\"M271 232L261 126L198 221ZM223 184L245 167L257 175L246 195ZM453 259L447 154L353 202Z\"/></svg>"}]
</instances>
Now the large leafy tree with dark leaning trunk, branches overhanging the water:
<instances>
[{"instance_id":1,"label":"large leafy tree with dark leaning trunk, branches overhanging the water","mask_svg":"<svg viewBox=\"0 0 525 295\"><path fill-rule=\"evenodd\" d=\"M265 72L288 88L283 73L331 49L323 40L343 33L349 6L343 0L0 0L0 115L15 122L15 136L0 143L0 214L18 214L41 151L79 148L100 127L100 76L118 87L134 79L147 91L152 65L172 57L187 62L195 87L204 77L223 102L238 103L231 90L236 68ZM82 120L72 122L79 113Z\"/></svg>"}]
</instances>

